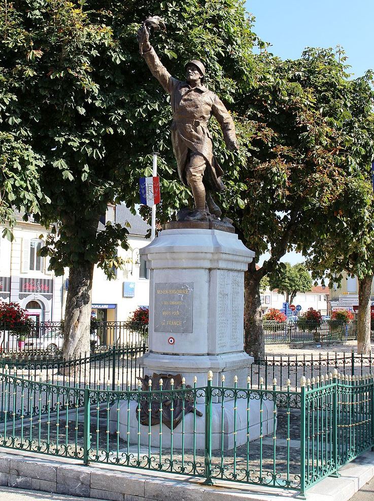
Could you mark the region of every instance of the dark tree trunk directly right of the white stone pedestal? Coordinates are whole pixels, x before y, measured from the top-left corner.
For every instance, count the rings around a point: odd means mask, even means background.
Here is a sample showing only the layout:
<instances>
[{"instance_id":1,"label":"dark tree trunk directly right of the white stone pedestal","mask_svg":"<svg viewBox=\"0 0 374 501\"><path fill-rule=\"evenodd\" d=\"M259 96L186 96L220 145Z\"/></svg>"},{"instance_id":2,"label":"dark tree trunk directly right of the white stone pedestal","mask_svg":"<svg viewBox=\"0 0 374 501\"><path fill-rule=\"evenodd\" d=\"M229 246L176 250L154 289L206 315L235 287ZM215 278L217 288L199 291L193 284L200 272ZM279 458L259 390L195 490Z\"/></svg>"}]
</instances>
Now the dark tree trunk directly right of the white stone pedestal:
<instances>
[{"instance_id":1,"label":"dark tree trunk directly right of the white stone pedestal","mask_svg":"<svg viewBox=\"0 0 374 501\"><path fill-rule=\"evenodd\" d=\"M250 263L244 274L244 349L255 358L265 354L264 333L260 298L260 280L262 276L256 273L255 263Z\"/></svg>"}]
</instances>

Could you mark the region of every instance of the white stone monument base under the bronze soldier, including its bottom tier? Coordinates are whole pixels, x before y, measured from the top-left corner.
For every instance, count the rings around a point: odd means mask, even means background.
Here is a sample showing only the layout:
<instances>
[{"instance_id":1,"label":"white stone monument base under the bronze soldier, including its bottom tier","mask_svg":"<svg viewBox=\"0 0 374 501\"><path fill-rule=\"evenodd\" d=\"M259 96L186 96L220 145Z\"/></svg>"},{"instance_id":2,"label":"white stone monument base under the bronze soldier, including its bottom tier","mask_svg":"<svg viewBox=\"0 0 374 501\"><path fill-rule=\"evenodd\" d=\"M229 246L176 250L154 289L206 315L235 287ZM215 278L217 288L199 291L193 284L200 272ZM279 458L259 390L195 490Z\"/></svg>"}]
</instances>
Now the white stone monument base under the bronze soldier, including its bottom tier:
<instances>
[{"instance_id":1,"label":"white stone monument base under the bronze soldier, including its bottom tier","mask_svg":"<svg viewBox=\"0 0 374 501\"><path fill-rule=\"evenodd\" d=\"M178 223L174 223L178 226ZM185 226L186 223L181 224ZM141 363L144 374L176 375L186 379L186 385L206 386L208 372L213 372L213 386L234 385L247 388L247 377L253 358L244 351L244 272L254 252L247 249L232 232L207 229L206 223L193 223L202 228L164 229L148 246L141 249L150 269L149 353ZM173 226L173 223L169 223ZM192 224L191 224L192 226ZM205 227L204 227L205 226ZM234 401L225 399L222 427L221 404L218 397L212 404L212 440L219 444L224 429L224 448L233 447ZM204 400L196 408L204 413ZM251 400L251 440L273 431L273 402ZM138 441L136 403L113 406L111 432L115 432L116 412L119 412L119 435L130 442ZM247 400L238 400L235 408L236 445L247 441ZM130 423L127 426L127 416ZM185 447L192 446L192 414L185 417ZM261 431L260 431L261 420ZM196 448L204 449L204 417L197 417ZM158 440L159 425L154 425L153 439ZM152 427L152 428L153 428ZM170 431L163 425L164 441ZM190 431L192 428L190 429ZM196 430L197 432L197 430ZM181 442L180 430L174 430L174 446ZM148 427L141 426L140 441L148 443ZM165 442L166 445L166 442Z\"/></svg>"}]
</instances>

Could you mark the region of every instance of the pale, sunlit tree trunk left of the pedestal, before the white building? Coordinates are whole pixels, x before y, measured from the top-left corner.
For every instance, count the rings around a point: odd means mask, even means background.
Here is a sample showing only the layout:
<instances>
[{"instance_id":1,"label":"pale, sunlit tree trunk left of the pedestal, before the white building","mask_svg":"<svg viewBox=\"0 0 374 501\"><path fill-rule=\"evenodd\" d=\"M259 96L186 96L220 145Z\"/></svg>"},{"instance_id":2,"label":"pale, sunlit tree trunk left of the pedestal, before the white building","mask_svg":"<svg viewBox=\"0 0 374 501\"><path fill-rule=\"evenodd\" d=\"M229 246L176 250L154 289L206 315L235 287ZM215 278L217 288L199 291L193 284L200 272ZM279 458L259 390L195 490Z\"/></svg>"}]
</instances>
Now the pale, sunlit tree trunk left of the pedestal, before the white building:
<instances>
[{"instance_id":1,"label":"pale, sunlit tree trunk left of the pedestal, before the white building","mask_svg":"<svg viewBox=\"0 0 374 501\"><path fill-rule=\"evenodd\" d=\"M63 340L64 358L90 352L91 291L94 265L77 263L70 268Z\"/></svg>"}]
</instances>

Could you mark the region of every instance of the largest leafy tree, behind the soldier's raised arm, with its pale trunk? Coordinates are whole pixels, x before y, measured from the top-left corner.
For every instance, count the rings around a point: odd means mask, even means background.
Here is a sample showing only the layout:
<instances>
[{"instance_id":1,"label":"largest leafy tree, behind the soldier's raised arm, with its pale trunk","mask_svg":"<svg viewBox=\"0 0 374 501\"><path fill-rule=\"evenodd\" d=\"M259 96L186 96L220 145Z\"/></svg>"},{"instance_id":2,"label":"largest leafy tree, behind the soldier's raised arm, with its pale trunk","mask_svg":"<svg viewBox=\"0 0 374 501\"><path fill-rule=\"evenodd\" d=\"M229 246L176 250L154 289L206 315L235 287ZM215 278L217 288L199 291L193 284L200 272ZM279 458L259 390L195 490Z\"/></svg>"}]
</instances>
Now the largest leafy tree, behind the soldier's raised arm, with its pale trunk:
<instances>
[{"instance_id":1,"label":"largest leafy tree, behind the soldier's raised arm, with its pale trunk","mask_svg":"<svg viewBox=\"0 0 374 501\"><path fill-rule=\"evenodd\" d=\"M89 350L94 264L111 277L121 265L118 241L127 246L127 229L108 223L98 233L99 218L110 202L138 203L139 177L151 174L153 150L161 153L161 218L192 200L176 176L168 99L139 54L137 30L150 14L166 22L157 51L168 70L181 78L184 63L201 58L209 86L230 106L240 82L257 71L252 48L259 43L236 0L0 6L2 131L38 161L32 162L44 196L38 220L54 224L42 252L57 275L70 269L65 356ZM213 133L223 145L218 124ZM233 158L223 146L218 154L223 165Z\"/></svg>"}]
</instances>

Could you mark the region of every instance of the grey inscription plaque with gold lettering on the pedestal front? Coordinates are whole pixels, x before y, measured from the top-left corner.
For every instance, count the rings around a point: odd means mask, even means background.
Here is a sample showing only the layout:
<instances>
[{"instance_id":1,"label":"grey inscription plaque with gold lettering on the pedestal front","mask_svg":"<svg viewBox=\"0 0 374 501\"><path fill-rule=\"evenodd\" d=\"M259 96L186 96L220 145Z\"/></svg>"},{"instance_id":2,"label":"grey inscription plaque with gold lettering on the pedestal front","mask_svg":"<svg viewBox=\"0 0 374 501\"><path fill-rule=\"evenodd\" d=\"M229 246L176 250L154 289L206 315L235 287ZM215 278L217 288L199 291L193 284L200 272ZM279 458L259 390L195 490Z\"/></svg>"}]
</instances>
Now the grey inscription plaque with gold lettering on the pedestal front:
<instances>
[{"instance_id":1,"label":"grey inscription plaque with gold lettering on the pedestal front","mask_svg":"<svg viewBox=\"0 0 374 501\"><path fill-rule=\"evenodd\" d=\"M155 332L192 332L193 282L155 284Z\"/></svg>"}]
</instances>

